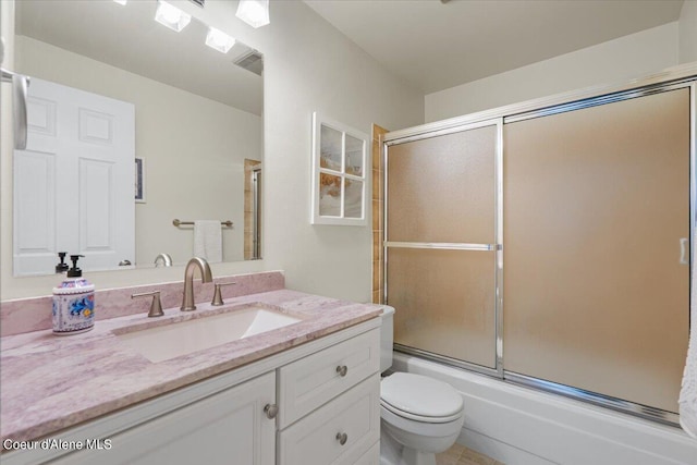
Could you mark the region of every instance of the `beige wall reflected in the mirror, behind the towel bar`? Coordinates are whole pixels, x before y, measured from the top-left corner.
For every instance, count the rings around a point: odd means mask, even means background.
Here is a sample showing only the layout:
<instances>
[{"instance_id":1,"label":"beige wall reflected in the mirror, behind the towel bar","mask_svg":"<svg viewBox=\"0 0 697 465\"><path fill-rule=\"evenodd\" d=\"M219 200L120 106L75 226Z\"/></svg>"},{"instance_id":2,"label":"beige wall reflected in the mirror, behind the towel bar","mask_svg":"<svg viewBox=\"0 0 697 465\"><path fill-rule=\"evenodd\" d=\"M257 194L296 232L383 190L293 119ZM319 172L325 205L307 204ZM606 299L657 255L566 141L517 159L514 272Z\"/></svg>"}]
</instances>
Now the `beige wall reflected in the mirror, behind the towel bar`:
<instances>
[{"instance_id":1,"label":"beige wall reflected in the mirror, behind the towel bar","mask_svg":"<svg viewBox=\"0 0 697 465\"><path fill-rule=\"evenodd\" d=\"M15 53L23 74L135 105L147 187L135 206L136 265L151 266L159 253L175 264L191 258L193 231L174 228L174 218L232 220L223 259L244 258L243 163L261 155L260 117L29 37L15 38Z\"/></svg>"}]
</instances>

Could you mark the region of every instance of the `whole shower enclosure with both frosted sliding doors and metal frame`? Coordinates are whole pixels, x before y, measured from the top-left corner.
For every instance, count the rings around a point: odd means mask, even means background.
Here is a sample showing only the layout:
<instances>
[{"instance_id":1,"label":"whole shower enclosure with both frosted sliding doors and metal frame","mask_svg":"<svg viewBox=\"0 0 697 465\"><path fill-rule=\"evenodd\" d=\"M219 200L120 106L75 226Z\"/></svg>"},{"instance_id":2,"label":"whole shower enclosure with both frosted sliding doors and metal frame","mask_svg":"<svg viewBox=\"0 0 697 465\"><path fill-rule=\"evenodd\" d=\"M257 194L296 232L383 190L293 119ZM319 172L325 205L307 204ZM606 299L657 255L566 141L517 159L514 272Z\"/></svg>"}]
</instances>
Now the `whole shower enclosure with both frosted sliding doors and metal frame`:
<instances>
[{"instance_id":1,"label":"whole shower enclosure with both frosted sliding doors and metal frame","mask_svg":"<svg viewBox=\"0 0 697 465\"><path fill-rule=\"evenodd\" d=\"M695 91L681 76L388 134L396 350L676 424Z\"/></svg>"}]
</instances>

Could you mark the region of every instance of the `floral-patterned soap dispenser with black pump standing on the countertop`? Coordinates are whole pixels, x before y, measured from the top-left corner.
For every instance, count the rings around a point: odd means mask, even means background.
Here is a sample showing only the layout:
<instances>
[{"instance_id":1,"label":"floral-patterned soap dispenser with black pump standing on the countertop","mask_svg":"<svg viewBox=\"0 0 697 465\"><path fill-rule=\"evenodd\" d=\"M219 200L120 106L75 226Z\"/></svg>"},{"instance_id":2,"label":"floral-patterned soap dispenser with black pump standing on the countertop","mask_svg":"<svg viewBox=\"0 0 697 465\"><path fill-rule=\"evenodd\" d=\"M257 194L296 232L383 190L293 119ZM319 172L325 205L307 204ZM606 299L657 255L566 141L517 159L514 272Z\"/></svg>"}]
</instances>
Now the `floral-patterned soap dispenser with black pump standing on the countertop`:
<instances>
[{"instance_id":1,"label":"floral-patterned soap dispenser with black pump standing on the countertop","mask_svg":"<svg viewBox=\"0 0 697 465\"><path fill-rule=\"evenodd\" d=\"M95 285L83 278L77 260L71 255L73 267L58 287L53 287L53 334L76 334L95 326Z\"/></svg>"}]
</instances>

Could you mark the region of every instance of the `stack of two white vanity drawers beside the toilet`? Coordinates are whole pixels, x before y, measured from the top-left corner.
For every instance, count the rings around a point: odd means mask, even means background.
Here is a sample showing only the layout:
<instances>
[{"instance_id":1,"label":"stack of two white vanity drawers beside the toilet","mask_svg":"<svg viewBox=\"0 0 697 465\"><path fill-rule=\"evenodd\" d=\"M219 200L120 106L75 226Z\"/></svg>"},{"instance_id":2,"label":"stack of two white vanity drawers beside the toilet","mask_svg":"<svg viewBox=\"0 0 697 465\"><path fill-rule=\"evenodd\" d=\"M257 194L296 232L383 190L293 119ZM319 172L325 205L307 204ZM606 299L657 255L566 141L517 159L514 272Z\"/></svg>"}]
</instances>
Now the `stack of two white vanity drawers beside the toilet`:
<instances>
[{"instance_id":1,"label":"stack of two white vanity drawers beside the toilet","mask_svg":"<svg viewBox=\"0 0 697 465\"><path fill-rule=\"evenodd\" d=\"M362 457L380 439L375 332L279 368L279 465L378 463Z\"/></svg>"}]
</instances>

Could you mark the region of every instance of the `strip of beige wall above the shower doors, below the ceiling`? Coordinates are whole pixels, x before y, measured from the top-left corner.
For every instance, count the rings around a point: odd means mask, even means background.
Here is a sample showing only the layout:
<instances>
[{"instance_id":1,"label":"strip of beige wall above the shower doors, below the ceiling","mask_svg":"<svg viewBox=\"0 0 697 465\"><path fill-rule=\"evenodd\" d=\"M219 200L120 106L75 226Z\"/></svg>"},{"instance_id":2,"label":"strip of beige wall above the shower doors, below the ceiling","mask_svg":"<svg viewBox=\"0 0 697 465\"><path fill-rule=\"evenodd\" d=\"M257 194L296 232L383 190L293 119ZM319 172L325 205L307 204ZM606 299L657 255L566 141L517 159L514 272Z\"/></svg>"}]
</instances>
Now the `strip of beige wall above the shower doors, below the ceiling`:
<instances>
[{"instance_id":1,"label":"strip of beige wall above the shower doors, below the ceiling","mask_svg":"<svg viewBox=\"0 0 697 465\"><path fill-rule=\"evenodd\" d=\"M426 96L432 122L584 87L621 83L677 60L677 22Z\"/></svg>"}]
</instances>

